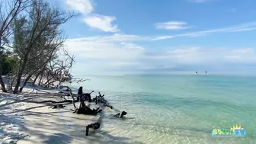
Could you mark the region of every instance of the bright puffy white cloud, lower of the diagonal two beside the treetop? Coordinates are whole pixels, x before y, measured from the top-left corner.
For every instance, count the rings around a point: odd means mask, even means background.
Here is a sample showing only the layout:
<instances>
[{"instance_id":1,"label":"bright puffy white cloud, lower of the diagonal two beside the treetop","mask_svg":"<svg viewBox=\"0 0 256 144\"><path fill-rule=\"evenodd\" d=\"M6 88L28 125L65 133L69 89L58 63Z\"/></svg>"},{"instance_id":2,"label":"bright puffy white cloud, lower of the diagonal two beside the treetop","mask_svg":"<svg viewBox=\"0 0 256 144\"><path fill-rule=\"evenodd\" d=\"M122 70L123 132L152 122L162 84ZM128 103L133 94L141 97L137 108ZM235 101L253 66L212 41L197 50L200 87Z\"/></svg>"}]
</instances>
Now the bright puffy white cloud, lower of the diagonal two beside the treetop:
<instances>
[{"instance_id":1,"label":"bright puffy white cloud, lower of the diagonal two beside the treetop","mask_svg":"<svg viewBox=\"0 0 256 144\"><path fill-rule=\"evenodd\" d=\"M89 27L102 30L104 32L117 32L120 31L117 28L117 25L112 24L115 19L116 18L112 16L94 14L85 18L84 21Z\"/></svg>"}]
</instances>

